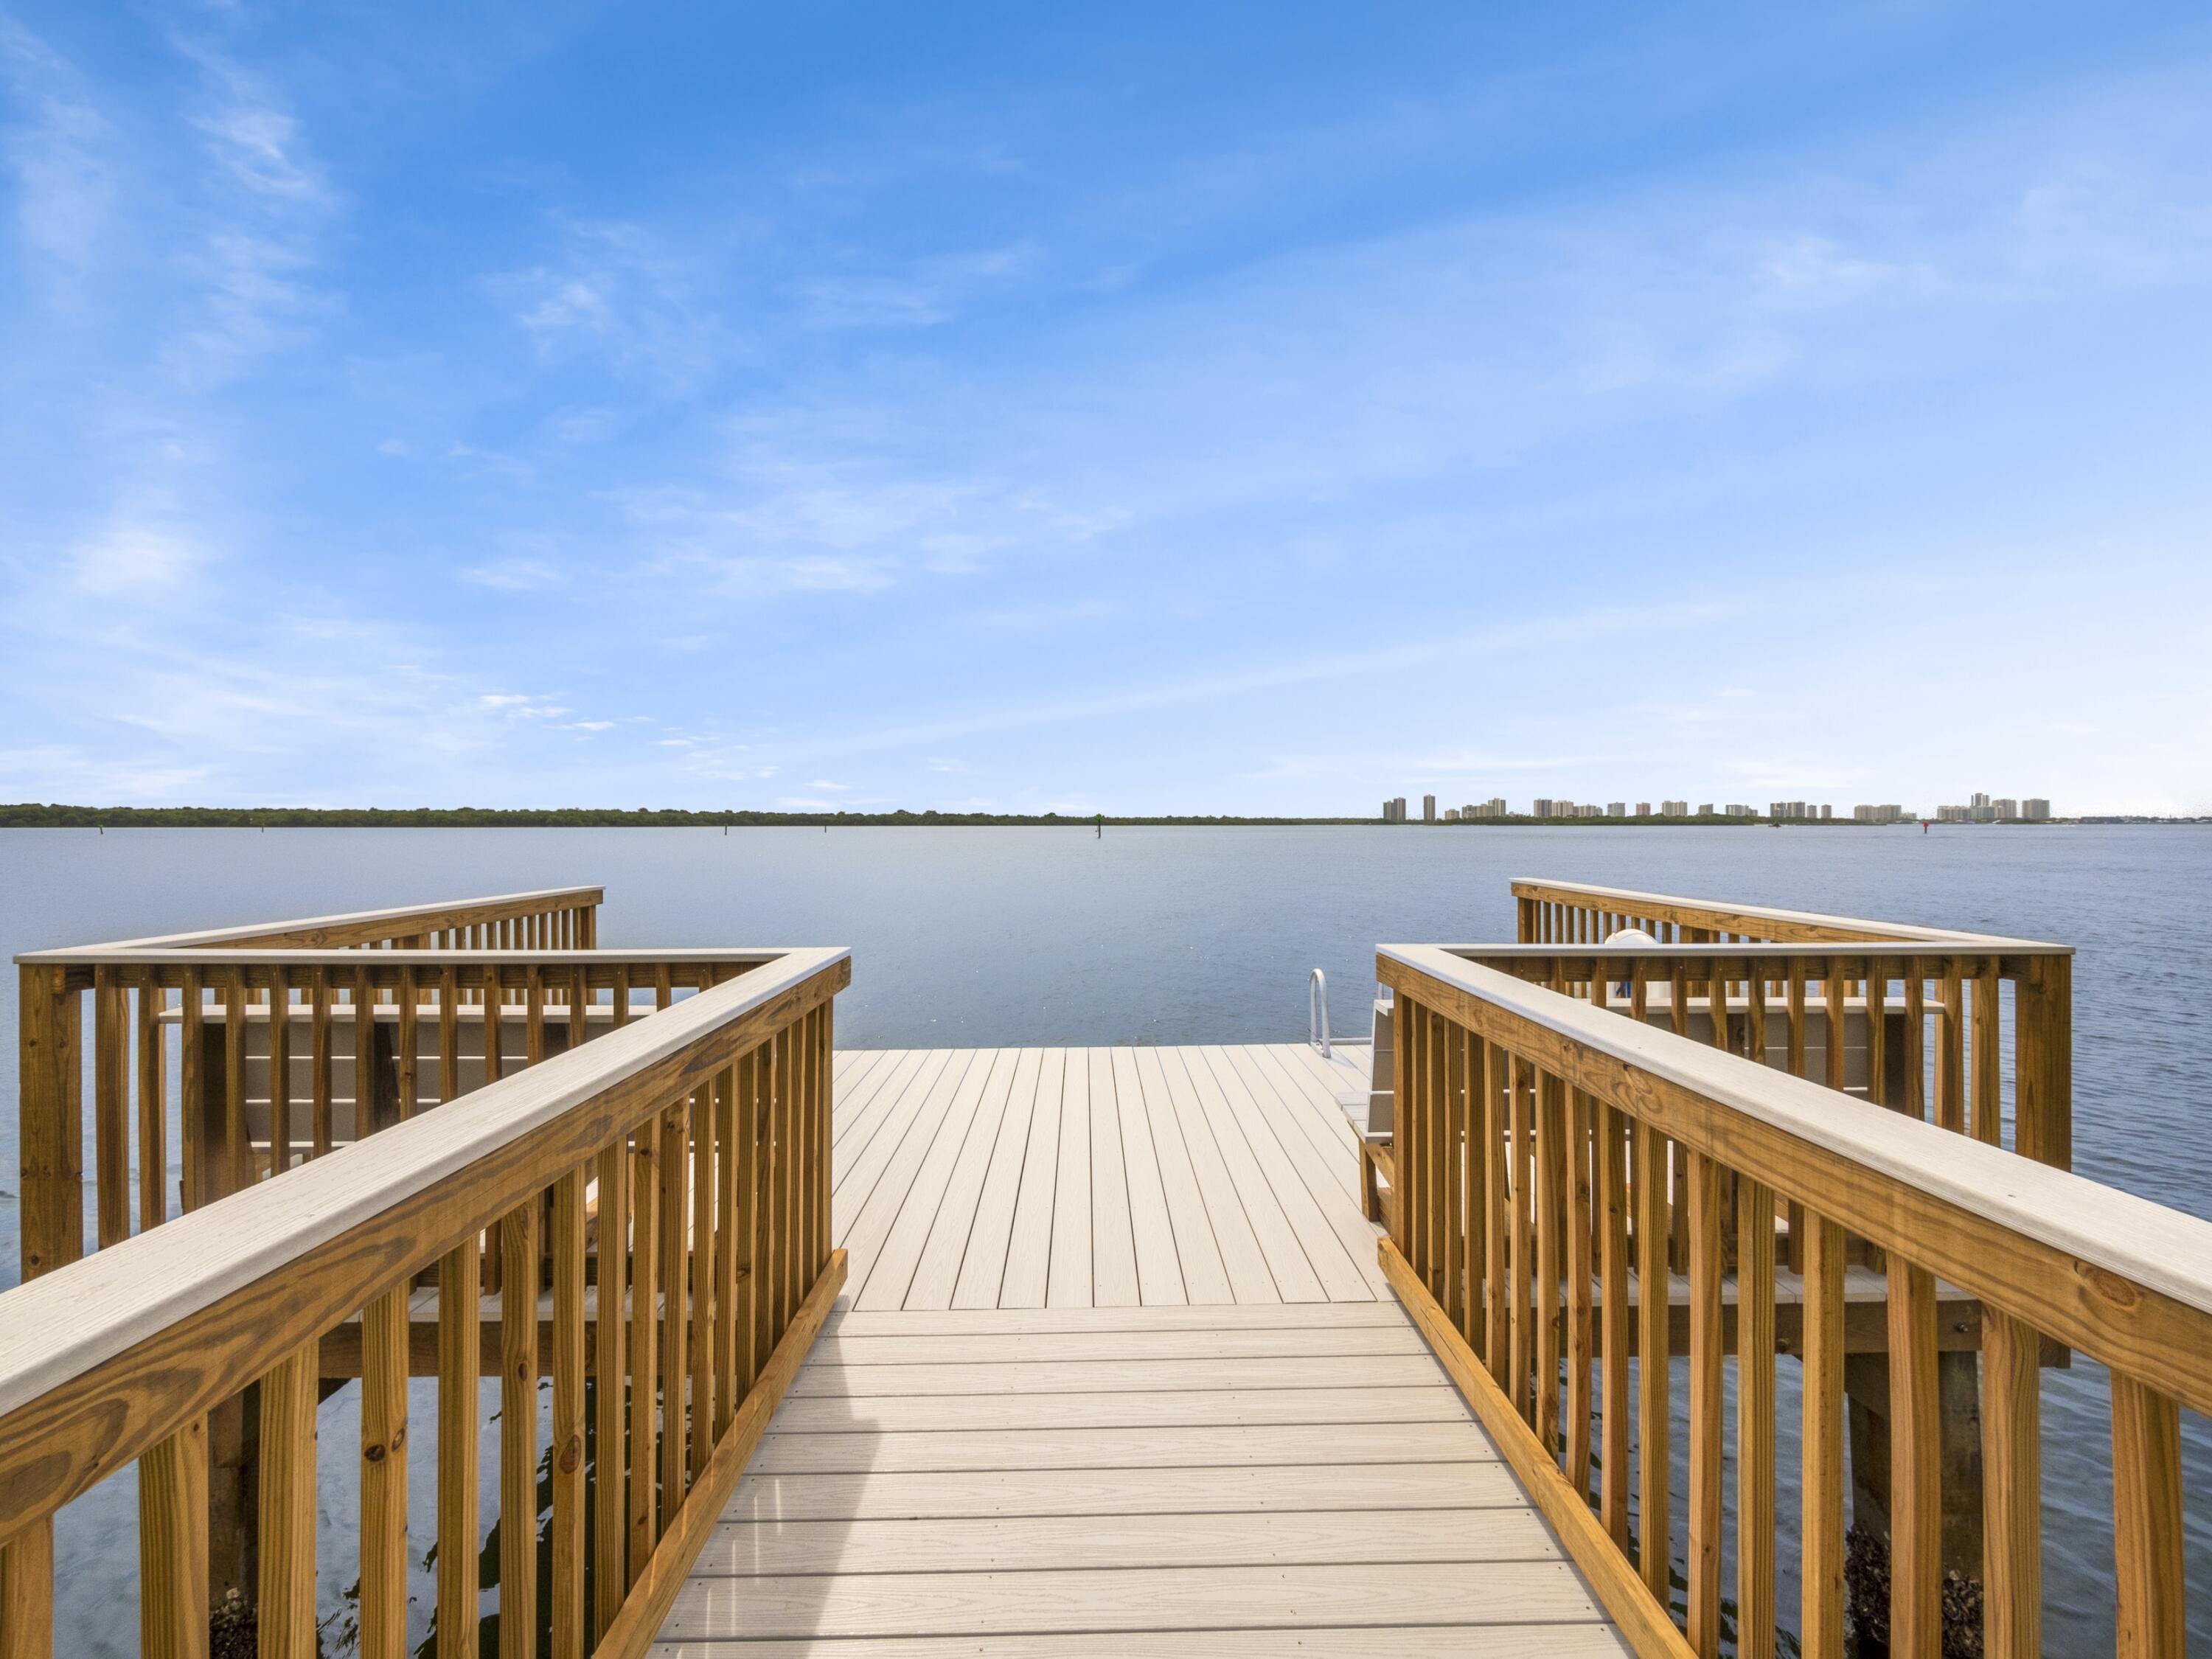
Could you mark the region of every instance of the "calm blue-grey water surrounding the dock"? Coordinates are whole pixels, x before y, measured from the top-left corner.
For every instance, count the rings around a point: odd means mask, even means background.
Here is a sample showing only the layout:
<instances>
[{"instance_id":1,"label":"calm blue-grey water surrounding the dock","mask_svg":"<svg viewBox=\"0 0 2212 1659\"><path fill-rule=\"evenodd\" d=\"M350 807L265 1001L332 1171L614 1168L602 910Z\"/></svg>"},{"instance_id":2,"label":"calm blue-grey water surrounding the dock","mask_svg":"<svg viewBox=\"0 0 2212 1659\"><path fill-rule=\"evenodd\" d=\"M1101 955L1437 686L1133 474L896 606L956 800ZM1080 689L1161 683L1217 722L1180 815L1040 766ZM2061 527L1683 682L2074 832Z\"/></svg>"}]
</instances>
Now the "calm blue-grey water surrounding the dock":
<instances>
[{"instance_id":1,"label":"calm blue-grey water surrounding the dock","mask_svg":"<svg viewBox=\"0 0 2212 1659\"><path fill-rule=\"evenodd\" d=\"M0 834L0 947L597 883L604 945L849 945L838 1042L852 1048L1283 1042L1305 1035L1312 967L1327 969L1338 1026L1349 1026L1378 940L1513 938L1513 876L2073 942L2075 1168L2212 1217L2212 1055L2201 1042L2212 830L2199 827L1376 825L1108 830L1104 841L1077 827L13 830ZM0 1022L7 1053L13 998ZM0 1168L13 1170L13 1068L0 1068ZM15 1232L9 1188L0 1283L15 1281ZM1787 1380L1792 1371L1783 1367ZM349 1398L325 1407L327 1447L352 1440ZM2104 1378L2088 1365L2046 1374L2044 1402L2051 1650L2104 1652ZM425 1422L427 1400L414 1416ZM2205 1644L2212 1442L2197 1420L2188 1433L2192 1628ZM429 1451L418 1436L418 1464ZM427 1475L420 1464L416 1491L431 1489ZM349 1504L334 1480L325 1486L323 1544L336 1564L352 1559ZM128 1500L128 1482L111 1482L104 1500L64 1517L66 1577L126 1577L135 1548L117 1506ZM484 1515L493 1511L495 1489ZM427 1513L418 1522L422 1533ZM88 1599L71 1597L77 1608ZM336 1588L327 1599L336 1606ZM64 1650L135 1650L128 1604L113 1588L97 1601Z\"/></svg>"}]
</instances>

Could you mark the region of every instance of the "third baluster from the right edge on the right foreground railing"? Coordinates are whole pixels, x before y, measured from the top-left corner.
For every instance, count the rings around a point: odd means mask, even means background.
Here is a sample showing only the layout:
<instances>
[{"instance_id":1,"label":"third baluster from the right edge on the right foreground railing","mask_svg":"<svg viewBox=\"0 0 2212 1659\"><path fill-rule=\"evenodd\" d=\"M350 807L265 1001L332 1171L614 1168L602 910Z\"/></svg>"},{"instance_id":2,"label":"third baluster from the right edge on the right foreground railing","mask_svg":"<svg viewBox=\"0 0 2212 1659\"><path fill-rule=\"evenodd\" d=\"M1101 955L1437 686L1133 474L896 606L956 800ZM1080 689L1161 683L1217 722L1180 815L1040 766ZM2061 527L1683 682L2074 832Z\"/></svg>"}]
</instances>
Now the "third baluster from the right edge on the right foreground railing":
<instances>
[{"instance_id":1,"label":"third baluster from the right edge on the right foreground railing","mask_svg":"<svg viewBox=\"0 0 2212 1659\"><path fill-rule=\"evenodd\" d=\"M1889 1652L1942 1659L1936 1276L1889 1256Z\"/></svg>"}]
</instances>

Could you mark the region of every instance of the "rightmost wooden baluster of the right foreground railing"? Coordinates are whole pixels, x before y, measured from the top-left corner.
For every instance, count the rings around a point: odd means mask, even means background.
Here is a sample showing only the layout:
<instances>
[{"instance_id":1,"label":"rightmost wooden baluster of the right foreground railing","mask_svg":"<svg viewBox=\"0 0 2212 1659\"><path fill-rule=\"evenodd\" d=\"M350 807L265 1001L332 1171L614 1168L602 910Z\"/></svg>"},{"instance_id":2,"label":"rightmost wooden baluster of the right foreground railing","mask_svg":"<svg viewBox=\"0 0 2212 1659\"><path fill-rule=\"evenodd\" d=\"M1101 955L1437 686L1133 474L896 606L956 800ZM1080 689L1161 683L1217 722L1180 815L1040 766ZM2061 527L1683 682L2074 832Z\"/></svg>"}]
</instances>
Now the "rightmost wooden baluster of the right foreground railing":
<instances>
[{"instance_id":1,"label":"rightmost wooden baluster of the right foreground railing","mask_svg":"<svg viewBox=\"0 0 2212 1659\"><path fill-rule=\"evenodd\" d=\"M2181 1416L2168 1396L2112 1371L2119 1659L2179 1659L2188 1652L2181 1537Z\"/></svg>"}]
</instances>

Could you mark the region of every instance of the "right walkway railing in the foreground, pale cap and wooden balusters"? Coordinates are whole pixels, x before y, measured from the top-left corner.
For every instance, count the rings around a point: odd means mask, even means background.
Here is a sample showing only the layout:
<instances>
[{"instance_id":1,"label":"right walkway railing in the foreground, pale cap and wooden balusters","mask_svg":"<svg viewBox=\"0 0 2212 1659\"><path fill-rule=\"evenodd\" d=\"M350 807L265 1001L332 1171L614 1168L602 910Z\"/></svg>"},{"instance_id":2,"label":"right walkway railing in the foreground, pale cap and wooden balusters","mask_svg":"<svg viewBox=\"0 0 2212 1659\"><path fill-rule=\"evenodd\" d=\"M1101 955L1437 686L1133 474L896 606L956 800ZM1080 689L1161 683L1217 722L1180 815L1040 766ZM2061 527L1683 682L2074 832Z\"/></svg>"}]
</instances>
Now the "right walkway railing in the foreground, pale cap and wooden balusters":
<instances>
[{"instance_id":1,"label":"right walkway railing in the foreground, pale cap and wooden balusters","mask_svg":"<svg viewBox=\"0 0 2212 1659\"><path fill-rule=\"evenodd\" d=\"M1378 975L1398 1009L1385 1272L1639 1652L1717 1655L1730 1590L1734 1650L1776 1650L1778 1352L1803 1363L1798 1639L1843 1652L1851 1241L1885 1261L1889 1652L1942 1652L1938 1367L1960 1340L1982 1360L1986 1652L2042 1650L2037 1358L2051 1343L2110 1369L2115 1646L2183 1650L2179 1411L2212 1411L2212 1225L1440 947L1383 947ZM1792 1206L1805 1265L1785 1303L1776 1225ZM1670 1365L1641 1363L1677 1349L1677 1294L1686 1398ZM1973 1303L1969 1334L1940 1325L1940 1298ZM1721 1475L1730 1358L1734 1493Z\"/></svg>"}]
</instances>

